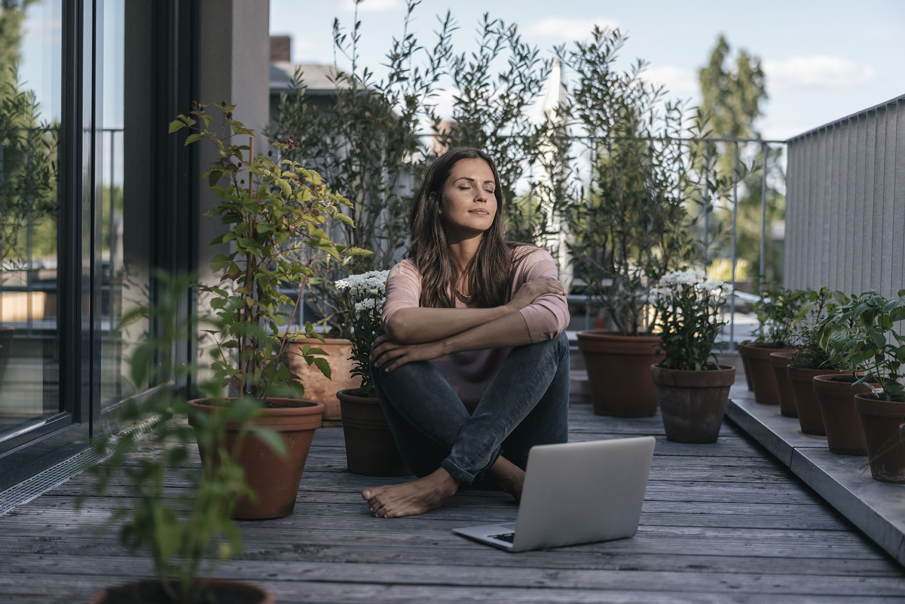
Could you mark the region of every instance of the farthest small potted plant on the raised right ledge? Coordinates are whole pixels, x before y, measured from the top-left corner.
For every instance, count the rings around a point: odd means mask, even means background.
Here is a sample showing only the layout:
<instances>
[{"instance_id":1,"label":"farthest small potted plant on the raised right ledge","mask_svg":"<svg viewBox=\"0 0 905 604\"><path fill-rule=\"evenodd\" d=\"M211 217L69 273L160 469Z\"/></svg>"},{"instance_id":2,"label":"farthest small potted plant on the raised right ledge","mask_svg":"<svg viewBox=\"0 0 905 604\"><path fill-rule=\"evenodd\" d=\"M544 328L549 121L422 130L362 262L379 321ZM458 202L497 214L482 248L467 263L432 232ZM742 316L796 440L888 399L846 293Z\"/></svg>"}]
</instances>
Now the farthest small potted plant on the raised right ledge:
<instances>
[{"instance_id":1,"label":"farthest small potted plant on the raised right ledge","mask_svg":"<svg viewBox=\"0 0 905 604\"><path fill-rule=\"evenodd\" d=\"M758 277L759 279L759 277ZM770 405L779 404L776 373L770 365L770 354L791 353L793 328L806 314L806 294L803 290L786 289L767 284L763 295L754 303L758 335L754 342L745 342L738 348L745 373L751 376L754 400ZM791 402L791 401L788 401ZM786 413L790 413L786 403Z\"/></svg>"}]
</instances>

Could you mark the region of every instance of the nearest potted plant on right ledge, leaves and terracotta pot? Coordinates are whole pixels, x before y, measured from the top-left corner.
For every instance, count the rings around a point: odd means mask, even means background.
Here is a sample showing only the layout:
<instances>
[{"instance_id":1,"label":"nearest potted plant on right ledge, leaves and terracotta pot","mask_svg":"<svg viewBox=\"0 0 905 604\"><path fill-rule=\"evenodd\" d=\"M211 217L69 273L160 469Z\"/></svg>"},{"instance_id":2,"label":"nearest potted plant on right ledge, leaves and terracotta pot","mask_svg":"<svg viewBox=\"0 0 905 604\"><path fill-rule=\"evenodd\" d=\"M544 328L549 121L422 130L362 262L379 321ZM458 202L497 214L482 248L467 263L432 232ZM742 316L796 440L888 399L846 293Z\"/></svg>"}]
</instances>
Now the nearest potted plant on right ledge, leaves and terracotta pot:
<instances>
[{"instance_id":1,"label":"nearest potted plant on right ledge, leaves and terracotta pot","mask_svg":"<svg viewBox=\"0 0 905 604\"><path fill-rule=\"evenodd\" d=\"M831 354L864 374L855 383L871 392L854 395L861 415L871 474L883 482L905 483L905 337L896 331L905 319L905 289L883 297L872 289L845 300L819 324L820 342Z\"/></svg>"}]
</instances>

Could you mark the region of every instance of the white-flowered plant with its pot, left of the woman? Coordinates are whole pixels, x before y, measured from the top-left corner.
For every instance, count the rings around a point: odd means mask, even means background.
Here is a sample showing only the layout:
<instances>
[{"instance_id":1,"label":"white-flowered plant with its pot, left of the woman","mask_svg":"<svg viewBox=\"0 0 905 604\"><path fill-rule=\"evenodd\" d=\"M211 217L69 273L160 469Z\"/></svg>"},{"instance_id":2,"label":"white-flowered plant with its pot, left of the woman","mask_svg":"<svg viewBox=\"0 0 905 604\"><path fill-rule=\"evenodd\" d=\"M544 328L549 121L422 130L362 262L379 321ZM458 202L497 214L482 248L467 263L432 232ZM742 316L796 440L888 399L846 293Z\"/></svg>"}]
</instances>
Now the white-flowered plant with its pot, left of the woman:
<instances>
[{"instance_id":1,"label":"white-flowered plant with its pot, left of the woman","mask_svg":"<svg viewBox=\"0 0 905 604\"><path fill-rule=\"evenodd\" d=\"M386 298L388 270L372 270L336 282L346 301L352 356L352 375L357 388L336 393L342 410L342 431L346 440L348 471L366 476L411 474L399 456L384 411L371 383L368 358L374 340L383 335L380 314Z\"/></svg>"}]
</instances>

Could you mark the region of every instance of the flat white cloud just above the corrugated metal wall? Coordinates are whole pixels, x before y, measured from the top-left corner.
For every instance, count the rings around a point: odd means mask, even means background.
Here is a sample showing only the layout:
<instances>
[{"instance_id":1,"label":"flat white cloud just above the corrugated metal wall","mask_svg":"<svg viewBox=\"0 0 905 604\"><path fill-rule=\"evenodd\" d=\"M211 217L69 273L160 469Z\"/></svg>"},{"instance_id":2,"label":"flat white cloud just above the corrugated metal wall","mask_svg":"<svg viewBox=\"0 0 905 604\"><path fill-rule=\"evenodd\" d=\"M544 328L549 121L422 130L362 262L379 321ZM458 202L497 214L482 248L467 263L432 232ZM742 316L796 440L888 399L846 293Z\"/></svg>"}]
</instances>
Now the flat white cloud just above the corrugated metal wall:
<instances>
[{"instance_id":1,"label":"flat white cloud just above the corrugated metal wall","mask_svg":"<svg viewBox=\"0 0 905 604\"><path fill-rule=\"evenodd\" d=\"M824 54L767 59L767 91L845 89L876 80L870 65Z\"/></svg>"}]
</instances>

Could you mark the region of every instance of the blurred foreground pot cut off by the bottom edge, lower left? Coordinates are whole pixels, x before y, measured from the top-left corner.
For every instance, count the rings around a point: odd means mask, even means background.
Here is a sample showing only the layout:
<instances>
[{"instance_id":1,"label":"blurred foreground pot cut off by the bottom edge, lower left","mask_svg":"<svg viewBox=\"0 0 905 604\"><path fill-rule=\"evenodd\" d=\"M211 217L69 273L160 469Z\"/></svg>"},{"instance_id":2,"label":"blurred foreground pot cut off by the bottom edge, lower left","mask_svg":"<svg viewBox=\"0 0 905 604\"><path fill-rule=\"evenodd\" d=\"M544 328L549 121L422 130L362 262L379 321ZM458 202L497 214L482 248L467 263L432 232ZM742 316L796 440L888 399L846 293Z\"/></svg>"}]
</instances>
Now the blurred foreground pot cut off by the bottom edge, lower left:
<instances>
[{"instance_id":1,"label":"blurred foreground pot cut off by the bottom edge, lower left","mask_svg":"<svg viewBox=\"0 0 905 604\"><path fill-rule=\"evenodd\" d=\"M260 585L246 583L240 580L225 579L199 579L203 584L203 591L199 592L195 601L230 601L242 602L242 604L276 604L276 598L270 590ZM160 582L154 580L139 580L133 583L124 583L106 590L94 592L88 599L88 604L120 604L131 602L134 604L157 604L166 602L166 592L160 587Z\"/></svg>"}]
</instances>

